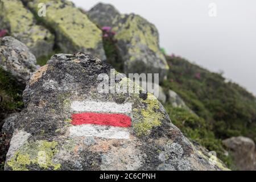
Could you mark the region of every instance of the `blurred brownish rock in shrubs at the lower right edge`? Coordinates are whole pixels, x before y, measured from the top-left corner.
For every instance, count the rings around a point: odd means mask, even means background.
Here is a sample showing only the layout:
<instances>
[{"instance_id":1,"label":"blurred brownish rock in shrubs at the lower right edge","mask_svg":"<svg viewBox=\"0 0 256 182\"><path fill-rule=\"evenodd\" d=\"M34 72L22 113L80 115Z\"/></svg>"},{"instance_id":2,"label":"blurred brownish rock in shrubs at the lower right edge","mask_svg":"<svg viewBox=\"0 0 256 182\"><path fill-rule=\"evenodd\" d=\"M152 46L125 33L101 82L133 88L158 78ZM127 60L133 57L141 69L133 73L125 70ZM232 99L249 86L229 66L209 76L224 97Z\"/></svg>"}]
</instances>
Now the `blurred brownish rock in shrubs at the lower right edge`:
<instances>
[{"instance_id":1,"label":"blurred brownish rock in shrubs at the lower right edge","mask_svg":"<svg viewBox=\"0 0 256 182\"><path fill-rule=\"evenodd\" d=\"M222 141L239 170L255 170L255 143L246 137L232 137Z\"/></svg>"}]
</instances>

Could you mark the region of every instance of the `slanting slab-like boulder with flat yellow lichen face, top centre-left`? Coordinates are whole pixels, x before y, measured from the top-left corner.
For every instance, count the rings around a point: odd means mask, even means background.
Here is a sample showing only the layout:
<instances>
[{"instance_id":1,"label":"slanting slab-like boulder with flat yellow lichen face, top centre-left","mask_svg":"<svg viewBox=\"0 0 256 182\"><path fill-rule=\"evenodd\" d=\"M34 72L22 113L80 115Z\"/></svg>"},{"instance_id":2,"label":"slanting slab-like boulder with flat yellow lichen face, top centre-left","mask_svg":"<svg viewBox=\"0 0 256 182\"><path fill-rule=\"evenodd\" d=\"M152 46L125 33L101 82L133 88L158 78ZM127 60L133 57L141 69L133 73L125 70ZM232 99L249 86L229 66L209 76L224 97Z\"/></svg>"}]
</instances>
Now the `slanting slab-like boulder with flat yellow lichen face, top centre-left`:
<instances>
[{"instance_id":1,"label":"slanting slab-like boulder with flat yellow lichen face, top centre-left","mask_svg":"<svg viewBox=\"0 0 256 182\"><path fill-rule=\"evenodd\" d=\"M38 18L55 31L57 46L63 52L88 52L106 59L101 30L72 2L34 0L28 2L28 7L36 13L39 3L46 4L47 15Z\"/></svg>"}]
</instances>

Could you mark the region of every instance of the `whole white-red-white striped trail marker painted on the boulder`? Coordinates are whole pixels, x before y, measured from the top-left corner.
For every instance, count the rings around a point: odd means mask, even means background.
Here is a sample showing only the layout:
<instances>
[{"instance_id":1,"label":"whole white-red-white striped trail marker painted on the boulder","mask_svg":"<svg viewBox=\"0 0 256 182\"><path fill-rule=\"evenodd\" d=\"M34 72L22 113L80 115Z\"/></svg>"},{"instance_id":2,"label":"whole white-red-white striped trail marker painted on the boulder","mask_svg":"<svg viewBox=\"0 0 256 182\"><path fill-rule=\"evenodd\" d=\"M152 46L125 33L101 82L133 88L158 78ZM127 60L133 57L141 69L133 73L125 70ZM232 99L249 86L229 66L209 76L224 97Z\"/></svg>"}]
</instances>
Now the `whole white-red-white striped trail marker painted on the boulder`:
<instances>
[{"instance_id":1,"label":"whole white-red-white striped trail marker painted on the boulder","mask_svg":"<svg viewBox=\"0 0 256 182\"><path fill-rule=\"evenodd\" d=\"M71 137L129 139L131 103L73 101Z\"/></svg>"}]
</instances>

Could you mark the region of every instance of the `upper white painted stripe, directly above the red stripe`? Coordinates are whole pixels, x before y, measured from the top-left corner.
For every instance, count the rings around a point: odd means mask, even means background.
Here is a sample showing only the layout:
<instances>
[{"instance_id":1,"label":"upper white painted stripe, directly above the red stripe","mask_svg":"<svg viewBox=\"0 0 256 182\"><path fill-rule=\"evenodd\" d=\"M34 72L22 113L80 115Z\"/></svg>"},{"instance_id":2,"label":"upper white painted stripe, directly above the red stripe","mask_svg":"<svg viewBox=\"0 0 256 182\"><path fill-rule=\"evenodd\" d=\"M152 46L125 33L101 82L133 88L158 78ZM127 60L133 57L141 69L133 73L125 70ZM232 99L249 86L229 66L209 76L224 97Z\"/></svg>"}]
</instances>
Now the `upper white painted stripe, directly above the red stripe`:
<instances>
[{"instance_id":1,"label":"upper white painted stripe, directly above the red stripe","mask_svg":"<svg viewBox=\"0 0 256 182\"><path fill-rule=\"evenodd\" d=\"M131 109L131 103L73 101L71 104L71 110L77 112L131 113Z\"/></svg>"}]
</instances>

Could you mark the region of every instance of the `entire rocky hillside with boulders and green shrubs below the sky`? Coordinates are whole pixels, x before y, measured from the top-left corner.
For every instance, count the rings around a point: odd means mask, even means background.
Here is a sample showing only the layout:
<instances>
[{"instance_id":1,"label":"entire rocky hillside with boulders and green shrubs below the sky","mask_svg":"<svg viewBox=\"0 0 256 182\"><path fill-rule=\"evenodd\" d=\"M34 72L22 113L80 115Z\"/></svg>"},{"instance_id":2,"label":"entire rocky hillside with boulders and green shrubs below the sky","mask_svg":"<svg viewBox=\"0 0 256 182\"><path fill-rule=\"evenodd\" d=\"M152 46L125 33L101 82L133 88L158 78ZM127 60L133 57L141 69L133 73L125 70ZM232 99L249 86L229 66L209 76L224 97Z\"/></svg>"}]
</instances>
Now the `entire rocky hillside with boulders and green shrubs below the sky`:
<instances>
[{"instance_id":1,"label":"entire rocky hillside with boulders and green shrubs below the sky","mask_svg":"<svg viewBox=\"0 0 256 182\"><path fill-rule=\"evenodd\" d=\"M65 0L0 0L0 10L1 169L255 169L255 97L166 55L143 17ZM128 73L159 73L160 85ZM110 93L99 75L114 75Z\"/></svg>"}]
</instances>

